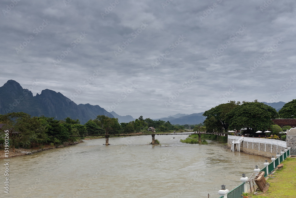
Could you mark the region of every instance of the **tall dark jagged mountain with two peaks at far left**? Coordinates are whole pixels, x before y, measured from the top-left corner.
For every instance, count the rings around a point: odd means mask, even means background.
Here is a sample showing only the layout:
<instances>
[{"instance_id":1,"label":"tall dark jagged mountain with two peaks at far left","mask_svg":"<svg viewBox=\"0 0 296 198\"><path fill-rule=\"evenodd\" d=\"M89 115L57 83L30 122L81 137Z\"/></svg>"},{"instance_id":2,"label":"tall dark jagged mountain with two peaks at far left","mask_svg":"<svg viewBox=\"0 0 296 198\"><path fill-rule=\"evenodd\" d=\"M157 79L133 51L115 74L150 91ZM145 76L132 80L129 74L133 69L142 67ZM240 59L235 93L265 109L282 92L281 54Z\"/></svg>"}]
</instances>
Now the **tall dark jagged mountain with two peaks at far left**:
<instances>
[{"instance_id":1,"label":"tall dark jagged mountain with two peaks at far left","mask_svg":"<svg viewBox=\"0 0 296 198\"><path fill-rule=\"evenodd\" d=\"M61 93L45 89L33 96L15 80L8 80L0 87L0 114L24 112L31 116L54 117L63 120L67 117L79 119L81 124L97 115L114 116L99 105L76 104Z\"/></svg>"}]
</instances>

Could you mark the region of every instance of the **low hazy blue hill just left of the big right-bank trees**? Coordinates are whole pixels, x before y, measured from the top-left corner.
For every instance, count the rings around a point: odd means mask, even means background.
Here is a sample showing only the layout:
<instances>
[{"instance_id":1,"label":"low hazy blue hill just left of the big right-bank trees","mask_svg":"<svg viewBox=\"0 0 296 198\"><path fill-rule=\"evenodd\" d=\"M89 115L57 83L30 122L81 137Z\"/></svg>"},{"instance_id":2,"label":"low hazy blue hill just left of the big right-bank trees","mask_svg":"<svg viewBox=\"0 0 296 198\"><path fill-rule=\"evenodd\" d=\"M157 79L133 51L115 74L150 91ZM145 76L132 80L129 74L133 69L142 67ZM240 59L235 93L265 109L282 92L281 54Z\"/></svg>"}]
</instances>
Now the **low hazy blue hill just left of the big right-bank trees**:
<instances>
[{"instance_id":1,"label":"low hazy blue hill just left of the big right-bank trees","mask_svg":"<svg viewBox=\"0 0 296 198\"><path fill-rule=\"evenodd\" d=\"M169 121L171 124L199 124L205 121L205 116L202 116L202 113L193 113L190 115L181 116L178 118L168 117L168 118L160 118L158 120Z\"/></svg>"}]
</instances>

